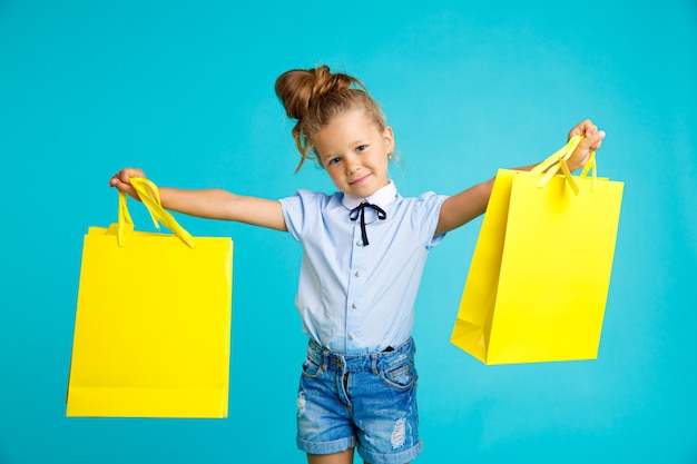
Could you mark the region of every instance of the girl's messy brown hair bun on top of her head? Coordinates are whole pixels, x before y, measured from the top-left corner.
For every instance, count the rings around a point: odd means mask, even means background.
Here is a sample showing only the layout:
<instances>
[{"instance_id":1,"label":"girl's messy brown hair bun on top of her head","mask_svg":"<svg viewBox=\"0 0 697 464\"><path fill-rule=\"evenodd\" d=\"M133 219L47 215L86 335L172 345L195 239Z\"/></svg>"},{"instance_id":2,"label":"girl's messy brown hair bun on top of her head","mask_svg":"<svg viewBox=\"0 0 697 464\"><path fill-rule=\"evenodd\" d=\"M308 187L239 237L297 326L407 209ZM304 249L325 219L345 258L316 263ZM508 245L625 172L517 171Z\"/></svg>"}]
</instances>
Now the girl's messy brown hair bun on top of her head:
<instances>
[{"instance_id":1,"label":"girl's messy brown hair bun on top of her head","mask_svg":"<svg viewBox=\"0 0 697 464\"><path fill-rule=\"evenodd\" d=\"M326 65L315 69L292 69L276 79L276 96L283 103L286 115L301 120L310 107L323 96L363 83L348 75L332 72Z\"/></svg>"}]
</instances>

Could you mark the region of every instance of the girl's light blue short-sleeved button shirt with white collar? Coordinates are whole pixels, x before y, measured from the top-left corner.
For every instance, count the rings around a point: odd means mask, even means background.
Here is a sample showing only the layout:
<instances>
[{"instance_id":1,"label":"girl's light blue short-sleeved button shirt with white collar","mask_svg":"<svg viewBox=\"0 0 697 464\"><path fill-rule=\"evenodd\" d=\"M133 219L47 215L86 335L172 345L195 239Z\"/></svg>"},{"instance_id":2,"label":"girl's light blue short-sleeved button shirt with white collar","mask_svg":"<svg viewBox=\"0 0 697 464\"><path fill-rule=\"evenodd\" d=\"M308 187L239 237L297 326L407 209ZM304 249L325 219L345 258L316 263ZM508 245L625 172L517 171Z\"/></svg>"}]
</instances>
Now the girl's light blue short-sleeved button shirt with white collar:
<instances>
[{"instance_id":1,"label":"girl's light blue short-sleeved button shirt with white collar","mask_svg":"<svg viewBox=\"0 0 697 464\"><path fill-rule=\"evenodd\" d=\"M409 339L414 300L445 196L403 198L391 181L369 198L298 190L281 199L291 235L303 245L295 305L303 329L320 345L345 354L377 353ZM367 200L370 245L351 209Z\"/></svg>"}]
</instances>

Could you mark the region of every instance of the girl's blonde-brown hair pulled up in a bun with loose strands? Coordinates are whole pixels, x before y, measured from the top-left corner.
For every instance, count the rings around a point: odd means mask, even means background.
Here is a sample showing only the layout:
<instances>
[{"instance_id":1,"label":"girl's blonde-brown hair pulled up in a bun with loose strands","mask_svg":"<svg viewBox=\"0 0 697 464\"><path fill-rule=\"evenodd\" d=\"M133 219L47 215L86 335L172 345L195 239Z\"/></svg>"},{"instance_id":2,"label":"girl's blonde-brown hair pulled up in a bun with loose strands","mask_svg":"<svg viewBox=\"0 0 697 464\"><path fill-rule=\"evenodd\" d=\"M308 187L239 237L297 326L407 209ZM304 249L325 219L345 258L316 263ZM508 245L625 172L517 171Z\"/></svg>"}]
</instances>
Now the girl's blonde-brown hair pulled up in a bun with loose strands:
<instances>
[{"instance_id":1,"label":"girl's blonde-brown hair pulled up in a bun with loose strands","mask_svg":"<svg viewBox=\"0 0 697 464\"><path fill-rule=\"evenodd\" d=\"M336 116L360 109L380 131L386 127L377 102L367 93L363 82L342 72L331 72L326 65L286 71L276 79L275 89L286 115L297 120L292 130L301 152L296 172L308 159L316 159L322 166L315 152L317 134Z\"/></svg>"}]
</instances>

